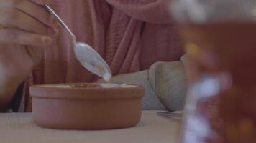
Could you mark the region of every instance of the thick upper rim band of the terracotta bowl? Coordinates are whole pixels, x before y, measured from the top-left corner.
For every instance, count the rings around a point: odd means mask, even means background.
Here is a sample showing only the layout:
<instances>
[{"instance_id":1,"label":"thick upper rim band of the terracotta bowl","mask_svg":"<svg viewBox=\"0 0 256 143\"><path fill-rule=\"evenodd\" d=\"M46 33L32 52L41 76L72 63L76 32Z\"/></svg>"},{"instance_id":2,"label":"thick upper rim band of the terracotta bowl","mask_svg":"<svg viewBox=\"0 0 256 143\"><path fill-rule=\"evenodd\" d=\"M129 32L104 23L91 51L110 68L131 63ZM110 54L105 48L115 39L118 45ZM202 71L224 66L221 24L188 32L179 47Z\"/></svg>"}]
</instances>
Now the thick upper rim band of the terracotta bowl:
<instances>
[{"instance_id":1,"label":"thick upper rim band of the terracotta bowl","mask_svg":"<svg viewBox=\"0 0 256 143\"><path fill-rule=\"evenodd\" d=\"M67 84L40 84L29 87L32 98L40 99L140 99L144 96L145 88L136 84L127 84L134 87L113 88L83 88L58 87L65 85L106 84L106 83L67 83ZM121 84L119 84L121 85ZM52 87L50 87L52 86ZM116 94L116 92L119 92ZM107 93L107 94L106 94Z\"/></svg>"}]
</instances>

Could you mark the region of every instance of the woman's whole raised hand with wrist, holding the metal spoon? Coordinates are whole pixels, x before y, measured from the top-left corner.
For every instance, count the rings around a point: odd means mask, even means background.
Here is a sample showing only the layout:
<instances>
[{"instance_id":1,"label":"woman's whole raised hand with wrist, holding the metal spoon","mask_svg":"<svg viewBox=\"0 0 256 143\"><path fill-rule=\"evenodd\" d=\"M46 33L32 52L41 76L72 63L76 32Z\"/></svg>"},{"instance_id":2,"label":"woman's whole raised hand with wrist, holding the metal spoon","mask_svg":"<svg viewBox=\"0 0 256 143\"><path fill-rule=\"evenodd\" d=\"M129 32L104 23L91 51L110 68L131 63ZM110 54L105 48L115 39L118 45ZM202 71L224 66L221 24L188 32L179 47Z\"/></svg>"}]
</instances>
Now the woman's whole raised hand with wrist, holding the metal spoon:
<instances>
[{"instance_id":1,"label":"woman's whole raised hand with wrist, holding the metal spoon","mask_svg":"<svg viewBox=\"0 0 256 143\"><path fill-rule=\"evenodd\" d=\"M0 108L8 103L58 34L47 0L0 0Z\"/></svg>"}]
</instances>

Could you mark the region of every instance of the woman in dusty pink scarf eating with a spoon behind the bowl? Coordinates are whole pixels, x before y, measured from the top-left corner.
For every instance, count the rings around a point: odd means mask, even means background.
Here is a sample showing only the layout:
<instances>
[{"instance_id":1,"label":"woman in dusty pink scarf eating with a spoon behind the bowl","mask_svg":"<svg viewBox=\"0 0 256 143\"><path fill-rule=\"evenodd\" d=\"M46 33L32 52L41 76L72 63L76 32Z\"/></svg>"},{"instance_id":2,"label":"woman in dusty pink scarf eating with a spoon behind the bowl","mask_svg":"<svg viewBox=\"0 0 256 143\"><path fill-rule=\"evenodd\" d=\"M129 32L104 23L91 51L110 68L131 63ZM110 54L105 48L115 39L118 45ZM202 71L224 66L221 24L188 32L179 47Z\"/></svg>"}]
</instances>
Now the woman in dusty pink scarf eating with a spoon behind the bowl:
<instances>
[{"instance_id":1,"label":"woman in dusty pink scarf eating with a spoon behind the bowl","mask_svg":"<svg viewBox=\"0 0 256 143\"><path fill-rule=\"evenodd\" d=\"M0 109L7 109L11 104L19 105L12 107L14 110L31 111L26 88L31 84L96 82L98 79L76 61L68 35L60 30L44 4L50 4L58 12L78 36L78 41L90 44L104 57L112 74L122 74L114 77L113 82L145 85L144 109L180 108L184 93L177 92L184 91L185 86L165 90L173 88L170 80L177 78L177 74L180 74L178 81L186 83L183 65L180 62L154 64L179 60L183 54L176 26L168 16L167 2L0 1ZM166 73L172 74L163 77ZM166 80L164 84L168 86L162 89L160 85ZM173 94L168 95L170 92L180 97L178 105L165 100L166 97L173 99Z\"/></svg>"}]
</instances>

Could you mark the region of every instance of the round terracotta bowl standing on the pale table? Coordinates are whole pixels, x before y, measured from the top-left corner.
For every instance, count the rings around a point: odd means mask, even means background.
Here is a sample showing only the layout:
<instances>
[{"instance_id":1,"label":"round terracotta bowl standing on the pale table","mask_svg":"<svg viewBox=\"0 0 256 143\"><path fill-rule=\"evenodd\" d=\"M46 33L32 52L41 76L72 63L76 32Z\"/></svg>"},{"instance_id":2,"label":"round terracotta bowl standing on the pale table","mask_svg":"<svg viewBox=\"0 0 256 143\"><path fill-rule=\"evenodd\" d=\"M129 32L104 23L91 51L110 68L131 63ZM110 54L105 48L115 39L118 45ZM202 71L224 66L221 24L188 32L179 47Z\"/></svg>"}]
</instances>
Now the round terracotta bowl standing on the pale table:
<instances>
[{"instance_id":1,"label":"round terracotta bowl standing on the pale table","mask_svg":"<svg viewBox=\"0 0 256 143\"><path fill-rule=\"evenodd\" d=\"M119 84L30 87L35 123L53 129L117 129L140 122L144 88Z\"/></svg>"}]
</instances>

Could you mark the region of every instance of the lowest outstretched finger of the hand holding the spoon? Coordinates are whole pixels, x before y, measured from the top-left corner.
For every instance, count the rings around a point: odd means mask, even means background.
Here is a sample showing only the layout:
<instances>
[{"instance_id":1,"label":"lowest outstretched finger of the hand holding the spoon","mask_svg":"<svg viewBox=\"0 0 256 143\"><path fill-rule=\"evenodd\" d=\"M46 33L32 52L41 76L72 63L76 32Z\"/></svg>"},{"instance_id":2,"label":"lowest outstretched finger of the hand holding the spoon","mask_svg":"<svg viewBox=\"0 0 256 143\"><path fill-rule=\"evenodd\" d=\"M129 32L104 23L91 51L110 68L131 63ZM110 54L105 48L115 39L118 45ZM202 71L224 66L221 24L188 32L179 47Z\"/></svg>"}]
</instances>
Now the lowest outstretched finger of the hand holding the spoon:
<instances>
[{"instance_id":1,"label":"lowest outstretched finger of the hand holding the spoon","mask_svg":"<svg viewBox=\"0 0 256 143\"><path fill-rule=\"evenodd\" d=\"M32 34L20 29L0 29L0 43L48 46L52 44L52 38L50 36Z\"/></svg>"}]
</instances>

